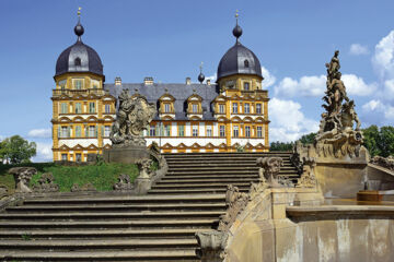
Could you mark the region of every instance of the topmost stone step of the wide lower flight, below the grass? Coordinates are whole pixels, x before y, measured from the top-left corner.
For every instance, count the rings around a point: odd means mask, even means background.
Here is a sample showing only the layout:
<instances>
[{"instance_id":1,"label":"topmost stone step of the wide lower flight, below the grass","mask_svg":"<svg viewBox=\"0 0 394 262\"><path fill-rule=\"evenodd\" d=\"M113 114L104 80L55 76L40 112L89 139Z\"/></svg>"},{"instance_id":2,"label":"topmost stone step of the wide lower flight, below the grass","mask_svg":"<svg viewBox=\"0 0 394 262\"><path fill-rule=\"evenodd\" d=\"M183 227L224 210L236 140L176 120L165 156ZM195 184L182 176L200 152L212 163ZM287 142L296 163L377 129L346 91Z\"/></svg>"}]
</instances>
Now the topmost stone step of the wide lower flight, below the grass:
<instances>
[{"instance_id":1,"label":"topmost stone step of the wide lower flight, below the grass","mask_svg":"<svg viewBox=\"0 0 394 262\"><path fill-rule=\"evenodd\" d=\"M194 194L194 195L128 195L121 198L34 198L26 199L24 205L43 205L43 204L148 204L148 203L206 203L222 202L225 194Z\"/></svg>"}]
</instances>

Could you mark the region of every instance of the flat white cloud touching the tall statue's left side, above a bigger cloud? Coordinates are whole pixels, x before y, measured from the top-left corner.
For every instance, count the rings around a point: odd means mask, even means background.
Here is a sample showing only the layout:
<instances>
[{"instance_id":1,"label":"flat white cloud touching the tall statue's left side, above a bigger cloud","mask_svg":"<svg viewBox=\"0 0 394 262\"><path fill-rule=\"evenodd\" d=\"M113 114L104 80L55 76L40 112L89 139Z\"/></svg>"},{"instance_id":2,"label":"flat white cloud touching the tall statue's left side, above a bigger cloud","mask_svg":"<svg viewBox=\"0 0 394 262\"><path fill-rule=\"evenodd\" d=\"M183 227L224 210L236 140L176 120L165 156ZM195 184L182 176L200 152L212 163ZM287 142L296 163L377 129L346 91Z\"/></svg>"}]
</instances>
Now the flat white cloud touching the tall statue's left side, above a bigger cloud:
<instances>
[{"instance_id":1,"label":"flat white cloud touching the tall statue's left side, above a bigger cloud","mask_svg":"<svg viewBox=\"0 0 394 262\"><path fill-rule=\"evenodd\" d=\"M299 81L285 78L274 87L275 95L292 96L323 96L326 88L326 76L302 76Z\"/></svg>"}]
</instances>

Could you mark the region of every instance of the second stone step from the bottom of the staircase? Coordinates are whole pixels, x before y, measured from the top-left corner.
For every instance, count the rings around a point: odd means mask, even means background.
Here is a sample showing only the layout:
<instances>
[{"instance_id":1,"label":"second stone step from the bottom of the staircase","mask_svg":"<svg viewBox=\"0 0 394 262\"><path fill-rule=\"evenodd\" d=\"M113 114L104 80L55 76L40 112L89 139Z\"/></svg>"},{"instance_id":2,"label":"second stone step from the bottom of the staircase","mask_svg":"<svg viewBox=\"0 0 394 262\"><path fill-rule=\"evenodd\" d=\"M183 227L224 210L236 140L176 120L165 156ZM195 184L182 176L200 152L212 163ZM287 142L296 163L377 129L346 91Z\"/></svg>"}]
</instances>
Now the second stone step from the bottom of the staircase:
<instances>
[{"instance_id":1,"label":"second stone step from the bottom of the staircase","mask_svg":"<svg viewBox=\"0 0 394 262\"><path fill-rule=\"evenodd\" d=\"M7 240L0 241L0 250L103 250L103 249L167 249L167 248L197 248L197 239L184 238L184 239L69 239L69 240Z\"/></svg>"}]
</instances>

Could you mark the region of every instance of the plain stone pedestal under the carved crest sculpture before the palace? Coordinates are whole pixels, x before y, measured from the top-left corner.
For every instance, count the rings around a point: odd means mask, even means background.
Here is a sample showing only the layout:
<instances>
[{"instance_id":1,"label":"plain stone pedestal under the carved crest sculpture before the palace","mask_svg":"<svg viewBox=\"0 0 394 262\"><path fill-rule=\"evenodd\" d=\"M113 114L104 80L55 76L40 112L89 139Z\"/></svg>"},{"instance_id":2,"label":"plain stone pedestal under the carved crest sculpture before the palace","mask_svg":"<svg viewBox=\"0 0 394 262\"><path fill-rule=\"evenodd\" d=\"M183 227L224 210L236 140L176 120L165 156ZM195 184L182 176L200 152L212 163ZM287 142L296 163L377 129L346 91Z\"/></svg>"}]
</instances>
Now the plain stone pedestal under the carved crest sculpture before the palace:
<instances>
[{"instance_id":1,"label":"plain stone pedestal under the carved crest sculpture before the palace","mask_svg":"<svg viewBox=\"0 0 394 262\"><path fill-rule=\"evenodd\" d=\"M103 155L106 163L136 164L138 160L150 158L146 146L114 147L104 150Z\"/></svg>"}]
</instances>

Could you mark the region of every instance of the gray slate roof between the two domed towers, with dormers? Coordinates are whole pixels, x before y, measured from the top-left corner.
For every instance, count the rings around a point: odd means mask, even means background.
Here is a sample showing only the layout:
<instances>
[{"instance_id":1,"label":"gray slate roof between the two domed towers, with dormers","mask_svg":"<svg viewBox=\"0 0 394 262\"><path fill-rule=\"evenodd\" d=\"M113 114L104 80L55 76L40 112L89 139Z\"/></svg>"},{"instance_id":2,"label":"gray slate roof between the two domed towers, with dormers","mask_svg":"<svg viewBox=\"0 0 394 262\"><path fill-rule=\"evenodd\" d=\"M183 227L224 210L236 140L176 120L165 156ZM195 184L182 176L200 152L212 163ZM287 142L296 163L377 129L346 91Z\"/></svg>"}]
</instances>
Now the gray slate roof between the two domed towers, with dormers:
<instances>
[{"instance_id":1,"label":"gray slate roof between the two domed towers, with dormers","mask_svg":"<svg viewBox=\"0 0 394 262\"><path fill-rule=\"evenodd\" d=\"M202 98L202 119L204 120L215 120L213 118L213 108L212 100L219 95L217 86L215 84L165 84L165 83L154 83L152 85L146 85L143 83L121 83L121 85L115 84L104 84L104 90L109 91L109 94L118 98L123 88L129 90L129 93L132 95L136 93L136 90L139 94L147 97L149 103L157 105L159 109L159 98L165 94L172 95L175 98L174 108L175 108L175 120L188 120L186 116L187 109L187 98L193 94L197 94ZM194 92L195 90L195 92ZM154 116L154 120L159 120L158 115Z\"/></svg>"}]
</instances>

